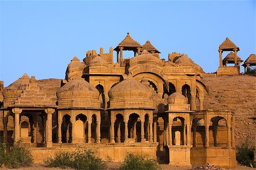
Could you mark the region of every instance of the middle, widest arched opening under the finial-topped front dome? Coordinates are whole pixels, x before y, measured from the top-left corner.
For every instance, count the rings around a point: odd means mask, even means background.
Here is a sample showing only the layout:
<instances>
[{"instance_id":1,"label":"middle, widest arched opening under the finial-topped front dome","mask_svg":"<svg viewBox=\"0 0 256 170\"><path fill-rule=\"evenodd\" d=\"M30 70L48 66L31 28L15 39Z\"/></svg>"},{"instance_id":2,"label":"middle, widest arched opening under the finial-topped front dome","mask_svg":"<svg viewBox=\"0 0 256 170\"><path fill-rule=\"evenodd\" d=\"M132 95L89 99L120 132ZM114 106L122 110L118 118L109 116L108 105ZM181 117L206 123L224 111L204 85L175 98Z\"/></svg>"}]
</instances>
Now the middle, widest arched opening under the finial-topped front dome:
<instances>
[{"instance_id":1,"label":"middle, widest arched opening under the finial-topped front dome","mask_svg":"<svg viewBox=\"0 0 256 170\"><path fill-rule=\"evenodd\" d=\"M141 124L139 122L139 115L132 113L128 121L128 138L130 142L141 142ZM143 126L144 127L144 126Z\"/></svg>"}]
</instances>

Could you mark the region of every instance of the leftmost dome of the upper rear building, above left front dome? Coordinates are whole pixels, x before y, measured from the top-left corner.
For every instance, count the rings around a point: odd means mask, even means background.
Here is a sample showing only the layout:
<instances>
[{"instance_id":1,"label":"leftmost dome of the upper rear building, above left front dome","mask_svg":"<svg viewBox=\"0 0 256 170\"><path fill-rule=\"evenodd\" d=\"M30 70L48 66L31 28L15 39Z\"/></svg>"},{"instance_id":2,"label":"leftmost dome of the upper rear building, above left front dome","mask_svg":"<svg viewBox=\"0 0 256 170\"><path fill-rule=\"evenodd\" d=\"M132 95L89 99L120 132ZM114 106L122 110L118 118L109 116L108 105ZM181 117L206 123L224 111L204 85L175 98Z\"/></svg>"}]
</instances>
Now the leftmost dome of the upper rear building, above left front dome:
<instances>
[{"instance_id":1,"label":"leftmost dome of the upper rear building, above left front dome","mask_svg":"<svg viewBox=\"0 0 256 170\"><path fill-rule=\"evenodd\" d=\"M80 62L77 57L74 57L69 63L66 70L66 80L71 80L76 76L81 77L85 68L85 63Z\"/></svg>"}]
</instances>

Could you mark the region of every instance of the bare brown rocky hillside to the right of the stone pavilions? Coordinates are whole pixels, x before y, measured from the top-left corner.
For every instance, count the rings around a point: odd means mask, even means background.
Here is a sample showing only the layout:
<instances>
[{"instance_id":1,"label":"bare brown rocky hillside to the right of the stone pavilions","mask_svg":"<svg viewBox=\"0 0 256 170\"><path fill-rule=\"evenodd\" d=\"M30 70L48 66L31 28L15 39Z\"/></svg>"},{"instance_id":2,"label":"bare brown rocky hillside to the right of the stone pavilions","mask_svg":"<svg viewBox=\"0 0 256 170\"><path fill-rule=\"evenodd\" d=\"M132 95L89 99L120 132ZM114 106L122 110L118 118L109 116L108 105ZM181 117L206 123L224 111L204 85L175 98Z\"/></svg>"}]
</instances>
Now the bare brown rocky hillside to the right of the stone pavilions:
<instances>
[{"instance_id":1,"label":"bare brown rocky hillside to the right of the stone pavilions","mask_svg":"<svg viewBox=\"0 0 256 170\"><path fill-rule=\"evenodd\" d=\"M236 145L249 141L255 145L255 126L251 119L255 113L256 77L205 76L203 82L210 95L205 94L204 109L229 109L235 113Z\"/></svg>"}]
</instances>

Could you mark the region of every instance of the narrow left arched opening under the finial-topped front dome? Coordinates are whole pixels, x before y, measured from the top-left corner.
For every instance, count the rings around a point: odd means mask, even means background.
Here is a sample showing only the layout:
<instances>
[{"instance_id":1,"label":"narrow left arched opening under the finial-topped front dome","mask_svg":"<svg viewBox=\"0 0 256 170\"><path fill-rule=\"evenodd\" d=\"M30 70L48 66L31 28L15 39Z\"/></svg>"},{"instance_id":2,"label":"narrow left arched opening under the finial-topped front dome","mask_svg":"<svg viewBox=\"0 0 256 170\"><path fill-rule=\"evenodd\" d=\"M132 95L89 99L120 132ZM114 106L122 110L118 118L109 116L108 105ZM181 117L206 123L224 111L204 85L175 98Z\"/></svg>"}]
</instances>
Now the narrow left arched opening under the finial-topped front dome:
<instances>
[{"instance_id":1,"label":"narrow left arched opening under the finial-topped front dome","mask_svg":"<svg viewBox=\"0 0 256 170\"><path fill-rule=\"evenodd\" d=\"M115 116L116 120L114 123L114 137L115 142L125 142L125 122L123 121L123 115L117 114Z\"/></svg>"}]
</instances>

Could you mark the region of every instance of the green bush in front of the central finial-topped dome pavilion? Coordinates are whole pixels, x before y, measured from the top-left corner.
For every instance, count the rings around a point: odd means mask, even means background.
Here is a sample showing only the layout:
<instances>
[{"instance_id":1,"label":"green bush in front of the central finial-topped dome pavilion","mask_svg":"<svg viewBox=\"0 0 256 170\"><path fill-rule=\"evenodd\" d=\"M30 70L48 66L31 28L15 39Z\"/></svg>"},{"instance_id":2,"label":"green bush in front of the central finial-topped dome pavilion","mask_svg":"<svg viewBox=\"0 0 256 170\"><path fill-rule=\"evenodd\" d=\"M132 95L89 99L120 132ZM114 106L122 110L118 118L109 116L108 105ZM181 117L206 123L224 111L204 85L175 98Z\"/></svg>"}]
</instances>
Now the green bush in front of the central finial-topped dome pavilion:
<instances>
[{"instance_id":1,"label":"green bush in front of the central finial-topped dome pavilion","mask_svg":"<svg viewBox=\"0 0 256 170\"><path fill-rule=\"evenodd\" d=\"M141 170L154 170L160 169L158 161L143 156L136 156L128 154L123 162L121 170L141 169Z\"/></svg>"}]
</instances>

